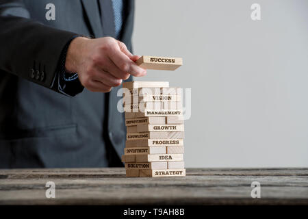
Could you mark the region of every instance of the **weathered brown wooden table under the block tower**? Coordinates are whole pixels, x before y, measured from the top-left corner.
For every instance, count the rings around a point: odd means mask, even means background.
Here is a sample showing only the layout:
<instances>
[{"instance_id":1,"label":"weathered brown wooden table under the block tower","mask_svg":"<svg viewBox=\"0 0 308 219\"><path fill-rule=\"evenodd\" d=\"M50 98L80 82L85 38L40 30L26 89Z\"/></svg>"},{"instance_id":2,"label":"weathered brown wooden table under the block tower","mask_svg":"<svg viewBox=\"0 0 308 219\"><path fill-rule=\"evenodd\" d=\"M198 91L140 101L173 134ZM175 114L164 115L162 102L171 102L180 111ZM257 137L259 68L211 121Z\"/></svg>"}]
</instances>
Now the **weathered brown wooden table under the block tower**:
<instances>
[{"instance_id":1,"label":"weathered brown wooden table under the block tower","mask_svg":"<svg viewBox=\"0 0 308 219\"><path fill-rule=\"evenodd\" d=\"M55 198L46 198L47 181ZM251 198L251 183L261 198ZM186 177L126 178L124 168L0 170L0 204L308 205L308 168L188 168Z\"/></svg>"}]
</instances>

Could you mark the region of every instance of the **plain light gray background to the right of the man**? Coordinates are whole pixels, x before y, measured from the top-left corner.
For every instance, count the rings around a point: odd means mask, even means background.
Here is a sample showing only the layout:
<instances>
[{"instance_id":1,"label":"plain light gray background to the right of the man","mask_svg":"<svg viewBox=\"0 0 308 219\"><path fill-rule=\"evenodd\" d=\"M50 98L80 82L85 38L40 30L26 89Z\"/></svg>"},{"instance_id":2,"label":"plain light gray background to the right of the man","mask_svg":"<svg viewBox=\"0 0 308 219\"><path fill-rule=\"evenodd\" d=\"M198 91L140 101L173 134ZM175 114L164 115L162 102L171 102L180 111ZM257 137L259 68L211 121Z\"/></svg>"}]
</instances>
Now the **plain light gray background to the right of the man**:
<instances>
[{"instance_id":1,"label":"plain light gray background to the right of the man","mask_svg":"<svg viewBox=\"0 0 308 219\"><path fill-rule=\"evenodd\" d=\"M307 0L137 0L135 19L136 54L183 57L135 79L192 88L187 167L308 166Z\"/></svg>"}]
</instances>

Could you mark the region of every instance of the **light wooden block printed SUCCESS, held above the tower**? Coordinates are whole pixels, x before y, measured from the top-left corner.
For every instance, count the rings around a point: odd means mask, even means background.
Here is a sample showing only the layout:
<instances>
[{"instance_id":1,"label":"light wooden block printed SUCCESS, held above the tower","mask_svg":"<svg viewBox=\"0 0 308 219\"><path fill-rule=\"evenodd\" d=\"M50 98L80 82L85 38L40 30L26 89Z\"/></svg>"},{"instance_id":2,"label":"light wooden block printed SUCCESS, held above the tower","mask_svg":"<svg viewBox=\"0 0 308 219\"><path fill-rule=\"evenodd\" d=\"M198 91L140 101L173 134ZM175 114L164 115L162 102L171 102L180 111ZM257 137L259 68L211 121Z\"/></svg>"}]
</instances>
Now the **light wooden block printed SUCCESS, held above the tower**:
<instances>
[{"instance_id":1,"label":"light wooden block printed SUCCESS, held above the tower","mask_svg":"<svg viewBox=\"0 0 308 219\"><path fill-rule=\"evenodd\" d=\"M183 64L181 57L157 57L142 55L136 64L142 68L155 70L175 70Z\"/></svg>"}]
</instances>

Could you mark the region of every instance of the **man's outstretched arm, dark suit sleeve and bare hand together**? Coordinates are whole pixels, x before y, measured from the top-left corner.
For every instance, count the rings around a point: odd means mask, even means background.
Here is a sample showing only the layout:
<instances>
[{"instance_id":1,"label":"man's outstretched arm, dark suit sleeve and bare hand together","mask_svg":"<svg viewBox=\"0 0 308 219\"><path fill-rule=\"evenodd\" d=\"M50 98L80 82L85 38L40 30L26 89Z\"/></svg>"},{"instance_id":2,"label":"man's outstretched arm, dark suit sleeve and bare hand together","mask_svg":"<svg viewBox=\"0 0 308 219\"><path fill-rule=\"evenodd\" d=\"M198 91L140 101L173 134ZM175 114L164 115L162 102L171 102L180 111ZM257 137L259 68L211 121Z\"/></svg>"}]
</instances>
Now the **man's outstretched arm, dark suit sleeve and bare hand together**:
<instances>
[{"instance_id":1,"label":"man's outstretched arm, dark suit sleeve and bare hand together","mask_svg":"<svg viewBox=\"0 0 308 219\"><path fill-rule=\"evenodd\" d=\"M61 54L77 34L29 19L21 2L0 2L0 69L61 92ZM11 16L15 14L24 17ZM108 92L129 75L145 75L146 71L134 63L137 59L125 44L113 38L77 37L69 43L64 62L65 70L78 73L79 81L70 84L78 87L81 83L88 90ZM77 93L81 90L77 89Z\"/></svg>"}]
</instances>

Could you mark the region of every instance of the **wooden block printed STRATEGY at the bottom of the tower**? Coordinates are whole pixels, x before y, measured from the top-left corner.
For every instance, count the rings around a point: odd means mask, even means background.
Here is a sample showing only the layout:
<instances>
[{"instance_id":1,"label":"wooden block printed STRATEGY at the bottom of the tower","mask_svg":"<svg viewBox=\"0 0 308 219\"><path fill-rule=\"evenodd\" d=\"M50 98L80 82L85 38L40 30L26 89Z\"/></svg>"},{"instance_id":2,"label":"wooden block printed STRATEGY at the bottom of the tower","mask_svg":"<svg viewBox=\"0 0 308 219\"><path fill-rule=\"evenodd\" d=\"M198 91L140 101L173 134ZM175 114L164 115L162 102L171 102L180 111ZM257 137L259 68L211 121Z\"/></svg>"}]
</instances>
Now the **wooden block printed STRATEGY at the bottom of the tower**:
<instances>
[{"instance_id":1,"label":"wooden block printed STRATEGY at the bottom of the tower","mask_svg":"<svg viewBox=\"0 0 308 219\"><path fill-rule=\"evenodd\" d=\"M185 177L185 169L139 170L139 177Z\"/></svg>"}]
</instances>

